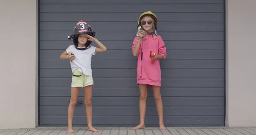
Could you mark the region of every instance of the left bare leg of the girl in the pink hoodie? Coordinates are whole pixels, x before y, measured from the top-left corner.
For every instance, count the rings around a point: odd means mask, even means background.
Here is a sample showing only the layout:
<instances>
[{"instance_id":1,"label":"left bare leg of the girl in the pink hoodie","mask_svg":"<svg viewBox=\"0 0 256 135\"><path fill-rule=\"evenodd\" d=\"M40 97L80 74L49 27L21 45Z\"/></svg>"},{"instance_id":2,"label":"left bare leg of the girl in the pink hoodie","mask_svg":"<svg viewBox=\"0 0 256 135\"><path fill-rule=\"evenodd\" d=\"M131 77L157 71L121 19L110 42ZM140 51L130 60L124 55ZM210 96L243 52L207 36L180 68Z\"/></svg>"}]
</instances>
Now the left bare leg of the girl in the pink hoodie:
<instances>
[{"instance_id":1,"label":"left bare leg of the girl in the pink hoodie","mask_svg":"<svg viewBox=\"0 0 256 135\"><path fill-rule=\"evenodd\" d=\"M139 84L140 88L140 124L135 126L133 129L144 129L145 128L145 113L146 113L146 101L147 101L147 85Z\"/></svg>"}]
</instances>

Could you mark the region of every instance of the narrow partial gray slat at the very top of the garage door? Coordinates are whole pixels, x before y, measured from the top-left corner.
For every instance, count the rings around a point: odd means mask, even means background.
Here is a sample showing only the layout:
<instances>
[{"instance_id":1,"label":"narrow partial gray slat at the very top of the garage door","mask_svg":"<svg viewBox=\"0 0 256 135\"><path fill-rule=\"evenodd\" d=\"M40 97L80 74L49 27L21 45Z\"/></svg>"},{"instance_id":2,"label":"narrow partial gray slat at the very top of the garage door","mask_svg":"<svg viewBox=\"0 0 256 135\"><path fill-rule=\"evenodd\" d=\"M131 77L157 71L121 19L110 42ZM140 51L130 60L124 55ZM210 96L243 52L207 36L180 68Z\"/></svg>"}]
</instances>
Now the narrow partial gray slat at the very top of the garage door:
<instances>
[{"instance_id":1,"label":"narrow partial gray slat at the very top of the garage door","mask_svg":"<svg viewBox=\"0 0 256 135\"><path fill-rule=\"evenodd\" d=\"M40 3L73 3L70 0L40 0ZM102 0L76 0L76 3L102 3ZM223 0L108 0L105 3L223 3Z\"/></svg>"}]
</instances>

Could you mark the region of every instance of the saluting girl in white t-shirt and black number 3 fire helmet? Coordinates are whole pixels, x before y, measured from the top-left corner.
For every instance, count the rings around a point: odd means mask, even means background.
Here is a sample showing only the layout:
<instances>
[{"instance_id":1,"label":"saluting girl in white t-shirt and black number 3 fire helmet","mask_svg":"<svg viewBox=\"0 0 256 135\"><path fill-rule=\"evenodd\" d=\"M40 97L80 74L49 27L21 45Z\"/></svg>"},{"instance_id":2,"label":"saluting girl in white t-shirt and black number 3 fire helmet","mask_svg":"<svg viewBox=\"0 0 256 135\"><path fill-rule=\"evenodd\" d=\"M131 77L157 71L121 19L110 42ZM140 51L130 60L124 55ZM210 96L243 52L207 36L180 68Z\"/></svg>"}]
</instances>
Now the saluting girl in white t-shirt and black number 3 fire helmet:
<instances>
[{"instance_id":1,"label":"saluting girl in white t-shirt and black number 3 fire helmet","mask_svg":"<svg viewBox=\"0 0 256 135\"><path fill-rule=\"evenodd\" d=\"M92 132L99 132L99 130L92 126L92 69L91 69L91 57L96 52L105 52L106 47L96 38L94 38L95 32L85 21L79 21L76 23L76 27L73 30L73 35L68 38L73 38L74 45L70 45L66 51L64 51L60 58L61 60L70 60L71 70L73 72L71 83L71 99L68 107L68 133L73 133L72 121L74 109L77 103L77 98L81 88L84 89L84 104L86 107L87 116L87 130ZM99 47L91 46L91 43L95 42Z\"/></svg>"}]
</instances>

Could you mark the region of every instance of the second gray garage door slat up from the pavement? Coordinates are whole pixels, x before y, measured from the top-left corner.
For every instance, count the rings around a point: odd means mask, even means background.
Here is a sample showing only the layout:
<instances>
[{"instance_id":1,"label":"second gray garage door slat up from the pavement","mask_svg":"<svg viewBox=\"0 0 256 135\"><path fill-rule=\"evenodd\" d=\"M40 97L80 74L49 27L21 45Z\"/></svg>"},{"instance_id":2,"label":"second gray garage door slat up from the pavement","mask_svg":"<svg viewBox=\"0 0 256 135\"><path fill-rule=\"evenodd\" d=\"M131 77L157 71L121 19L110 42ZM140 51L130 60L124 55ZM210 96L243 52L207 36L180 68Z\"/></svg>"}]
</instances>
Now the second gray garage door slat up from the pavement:
<instances>
[{"instance_id":1,"label":"second gray garage door slat up from the pavement","mask_svg":"<svg viewBox=\"0 0 256 135\"><path fill-rule=\"evenodd\" d=\"M41 106L41 115L67 115L68 106ZM139 106L93 106L93 115L140 115ZM85 106L76 106L74 115L85 115ZM157 115L156 106L147 106L145 115ZM163 115L224 115L219 107L163 107Z\"/></svg>"}]
</instances>

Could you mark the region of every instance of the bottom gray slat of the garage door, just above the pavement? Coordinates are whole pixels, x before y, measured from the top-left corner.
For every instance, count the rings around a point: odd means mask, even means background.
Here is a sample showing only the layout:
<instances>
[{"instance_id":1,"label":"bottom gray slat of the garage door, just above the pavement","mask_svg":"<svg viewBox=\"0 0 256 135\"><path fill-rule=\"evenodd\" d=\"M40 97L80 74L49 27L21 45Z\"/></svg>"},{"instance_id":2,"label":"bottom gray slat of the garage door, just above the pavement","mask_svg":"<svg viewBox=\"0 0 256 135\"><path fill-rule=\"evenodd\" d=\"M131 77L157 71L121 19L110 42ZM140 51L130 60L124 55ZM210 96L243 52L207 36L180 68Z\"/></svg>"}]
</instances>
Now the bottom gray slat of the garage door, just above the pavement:
<instances>
[{"instance_id":1,"label":"bottom gray slat of the garage door, just above the pavement","mask_svg":"<svg viewBox=\"0 0 256 135\"><path fill-rule=\"evenodd\" d=\"M114 120L114 121L113 121ZM224 116L164 116L165 126L223 126ZM67 115L40 116L41 125L65 125ZM93 126L136 126L140 123L140 116L94 116ZM74 116L73 126L86 126L85 116ZM98 125L100 124L100 125ZM159 126L158 116L145 116L145 126Z\"/></svg>"}]
</instances>

